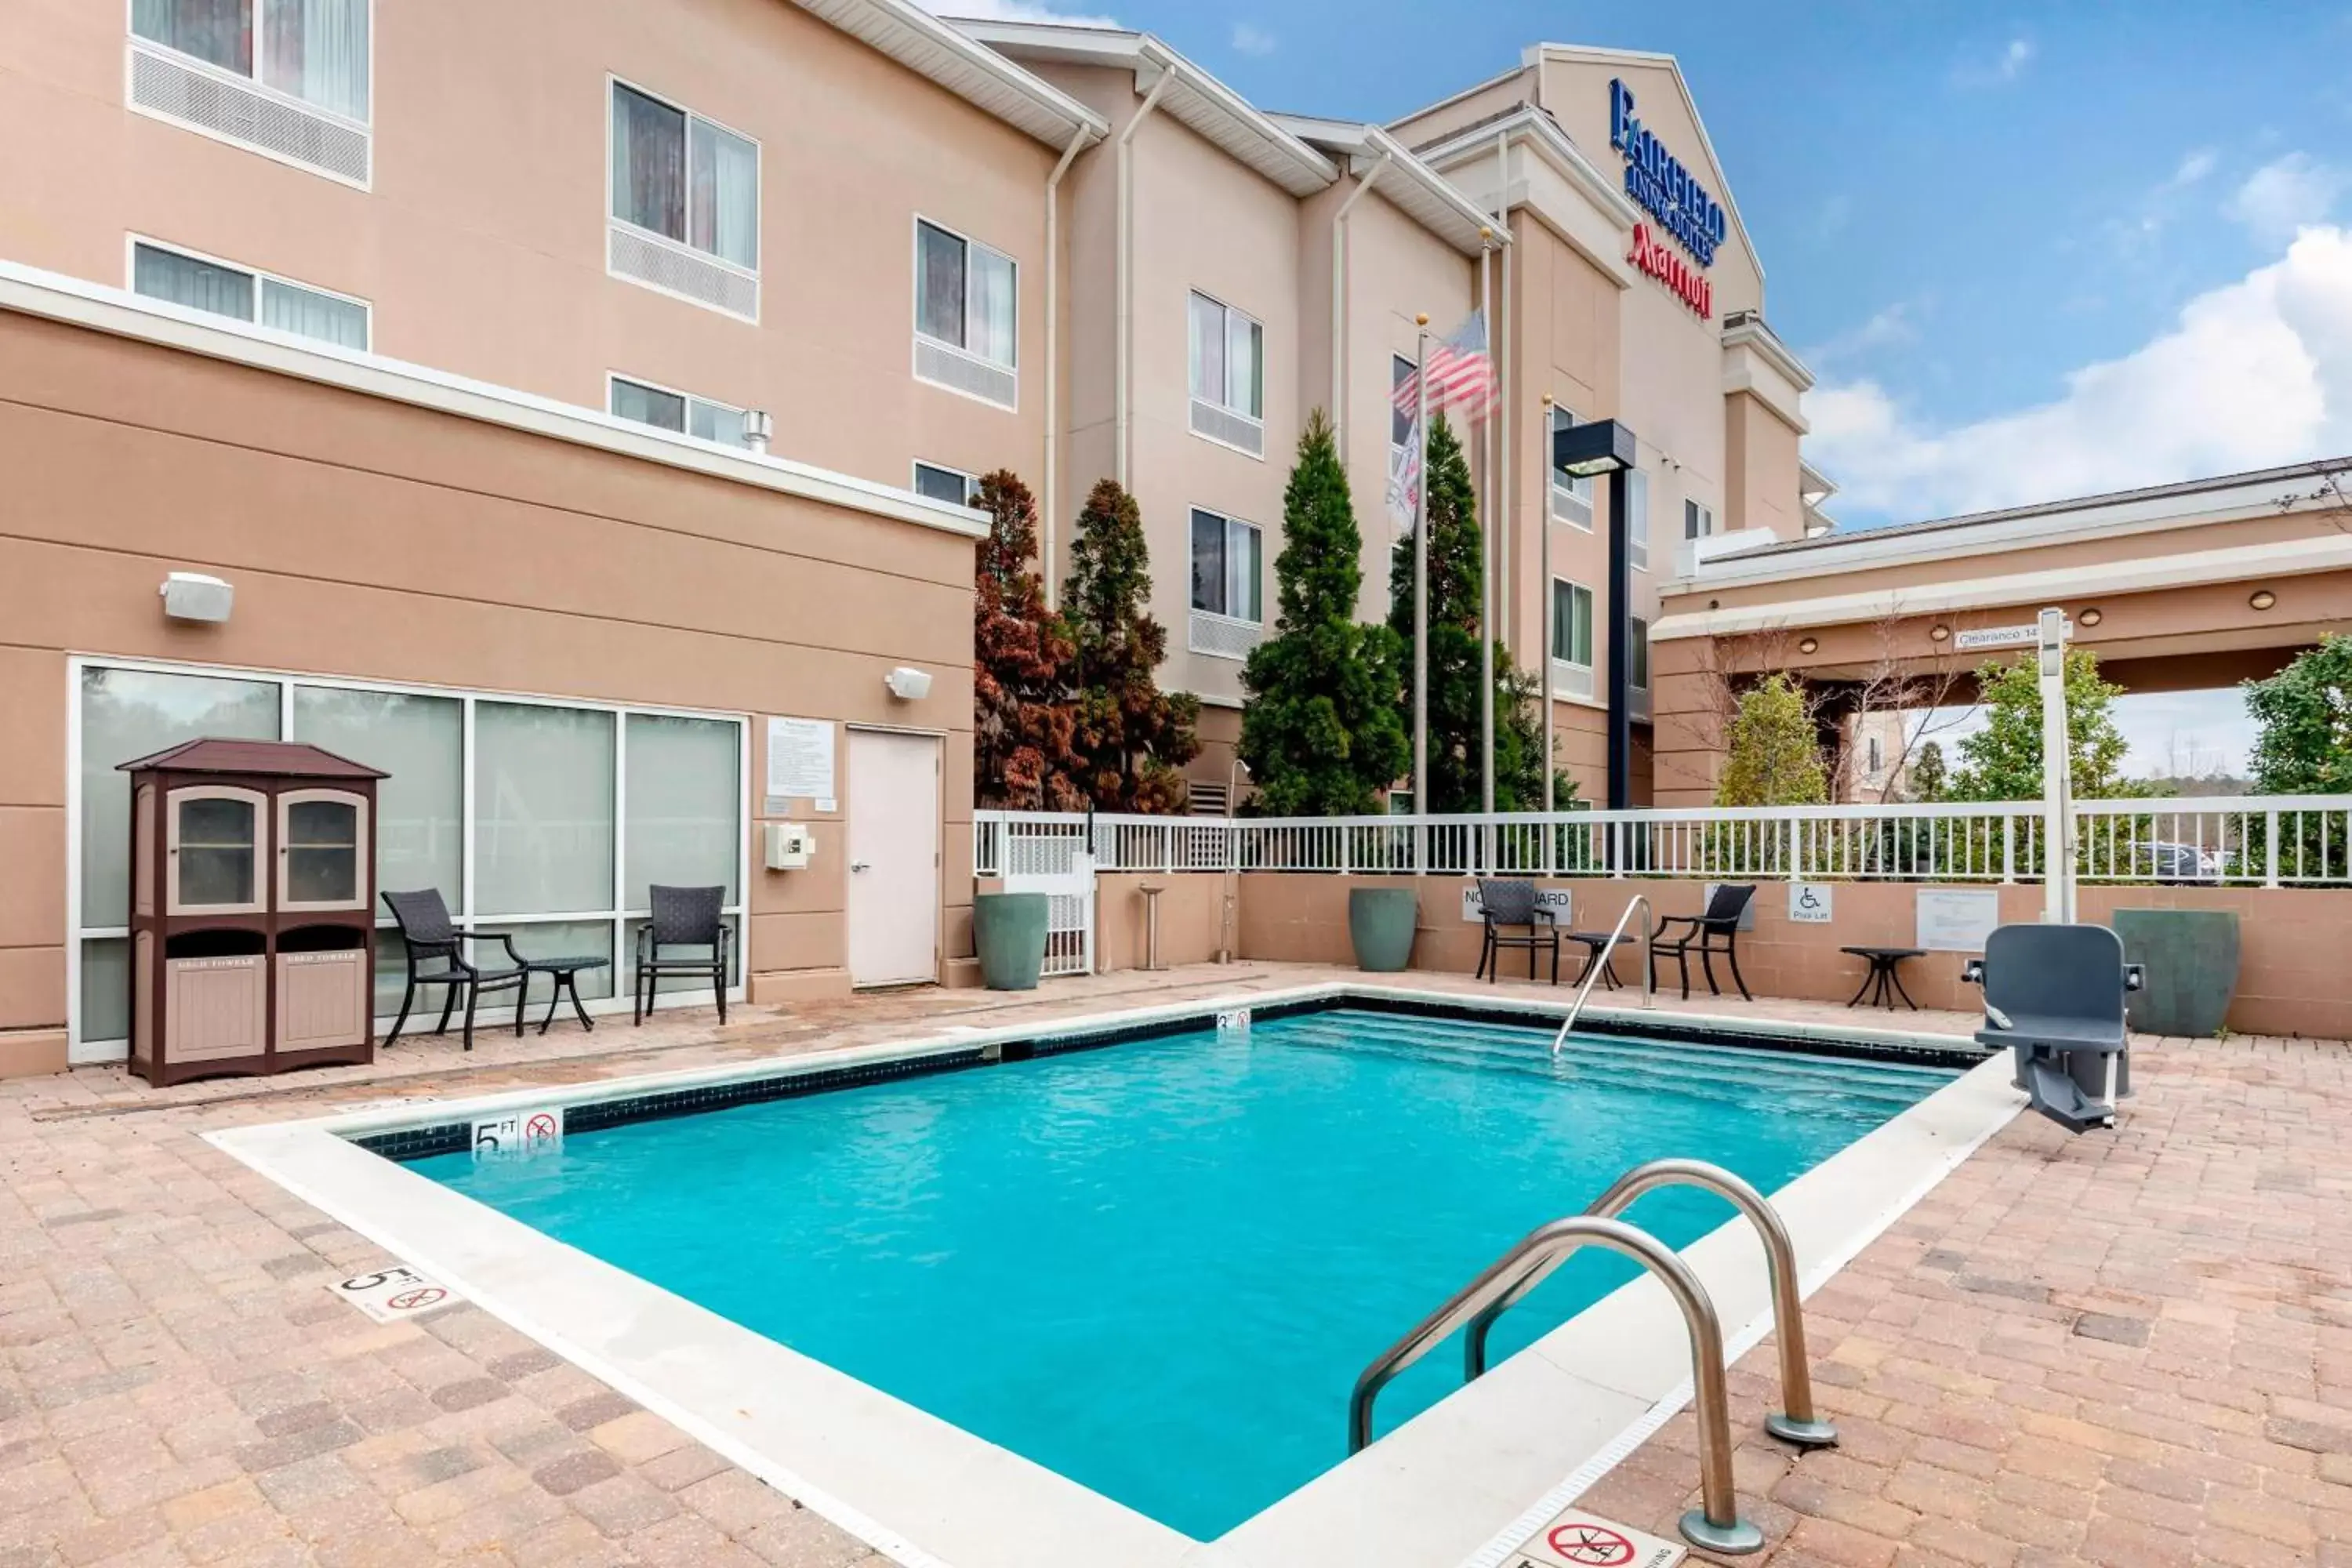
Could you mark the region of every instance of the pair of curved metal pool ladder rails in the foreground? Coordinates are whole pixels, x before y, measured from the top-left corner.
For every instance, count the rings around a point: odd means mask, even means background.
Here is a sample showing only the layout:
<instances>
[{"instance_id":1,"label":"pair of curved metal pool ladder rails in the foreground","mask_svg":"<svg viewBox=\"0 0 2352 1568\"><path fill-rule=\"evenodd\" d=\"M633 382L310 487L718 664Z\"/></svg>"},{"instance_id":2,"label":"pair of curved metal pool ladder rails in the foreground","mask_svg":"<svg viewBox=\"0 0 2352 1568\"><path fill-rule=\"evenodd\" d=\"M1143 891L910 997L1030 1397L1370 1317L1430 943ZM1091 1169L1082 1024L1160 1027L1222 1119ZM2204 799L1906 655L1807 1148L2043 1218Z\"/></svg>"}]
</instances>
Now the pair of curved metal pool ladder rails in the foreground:
<instances>
[{"instance_id":1,"label":"pair of curved metal pool ladder rails in the foreground","mask_svg":"<svg viewBox=\"0 0 2352 1568\"><path fill-rule=\"evenodd\" d=\"M1764 1429L1797 1448L1828 1448L1837 1427L1813 1413L1813 1375L1804 1354L1804 1305L1797 1295L1797 1248L1788 1227L1745 1180L1703 1159L1653 1159L1616 1178L1590 1208L1566 1220L1538 1225L1517 1246L1496 1258L1463 1286L1454 1300L1421 1319L1402 1340L1381 1352L1355 1380L1348 1399L1348 1453L1371 1443L1371 1401L1406 1366L1430 1354L1456 1328L1463 1335L1463 1382L1486 1371L1486 1333L1541 1286L1552 1269L1585 1246L1599 1246L1632 1258L1658 1276L1682 1309L1691 1335L1691 1392L1698 1406L1698 1495L1700 1507L1682 1516L1682 1537L1708 1552L1762 1552L1764 1533L1738 1516L1731 1493L1731 1418L1724 1408L1724 1331L1715 1316L1708 1288L1670 1246L1618 1215L1656 1187L1703 1187L1731 1201L1764 1239L1764 1267L1771 1276L1773 1338L1780 1342L1783 1410L1764 1418Z\"/></svg>"}]
</instances>

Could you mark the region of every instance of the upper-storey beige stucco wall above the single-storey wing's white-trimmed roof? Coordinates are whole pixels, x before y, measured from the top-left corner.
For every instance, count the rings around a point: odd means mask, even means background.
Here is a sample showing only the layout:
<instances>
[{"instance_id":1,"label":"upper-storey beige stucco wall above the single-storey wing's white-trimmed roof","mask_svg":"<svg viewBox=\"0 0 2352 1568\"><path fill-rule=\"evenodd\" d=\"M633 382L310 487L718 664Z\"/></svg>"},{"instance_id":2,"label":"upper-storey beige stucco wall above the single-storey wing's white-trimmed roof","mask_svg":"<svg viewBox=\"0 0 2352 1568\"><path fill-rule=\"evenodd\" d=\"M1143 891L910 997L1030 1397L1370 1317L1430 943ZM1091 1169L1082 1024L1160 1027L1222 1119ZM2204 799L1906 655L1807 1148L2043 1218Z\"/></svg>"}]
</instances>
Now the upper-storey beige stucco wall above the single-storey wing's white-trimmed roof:
<instances>
[{"instance_id":1,"label":"upper-storey beige stucco wall above the single-storey wing's white-trimmed roof","mask_svg":"<svg viewBox=\"0 0 2352 1568\"><path fill-rule=\"evenodd\" d=\"M887 484L1035 482L1054 150L776 0L400 0L374 19L374 188L125 108L125 7L0 7L0 256L127 287L139 233L374 306L374 348L604 407L621 371L774 414ZM760 141L762 320L604 273L607 73ZM1021 263L1021 409L913 378L913 226Z\"/></svg>"}]
</instances>

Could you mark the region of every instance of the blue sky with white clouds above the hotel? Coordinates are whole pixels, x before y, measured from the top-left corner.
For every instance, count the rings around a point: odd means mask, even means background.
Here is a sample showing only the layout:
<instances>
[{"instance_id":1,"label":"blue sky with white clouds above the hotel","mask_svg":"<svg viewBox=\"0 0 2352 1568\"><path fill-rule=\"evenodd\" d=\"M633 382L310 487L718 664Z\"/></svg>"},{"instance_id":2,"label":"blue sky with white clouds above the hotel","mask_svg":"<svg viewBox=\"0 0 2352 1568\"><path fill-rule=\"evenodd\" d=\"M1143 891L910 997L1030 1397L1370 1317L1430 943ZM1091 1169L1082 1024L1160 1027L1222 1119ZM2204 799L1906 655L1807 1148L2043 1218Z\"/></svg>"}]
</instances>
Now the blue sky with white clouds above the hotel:
<instances>
[{"instance_id":1,"label":"blue sky with white clouds above the hotel","mask_svg":"<svg viewBox=\"0 0 2352 1568\"><path fill-rule=\"evenodd\" d=\"M2352 454L2352 0L936 2L1364 120L1534 40L1675 54L1844 527ZM2124 710L2133 771L2251 733L2234 693Z\"/></svg>"}]
</instances>

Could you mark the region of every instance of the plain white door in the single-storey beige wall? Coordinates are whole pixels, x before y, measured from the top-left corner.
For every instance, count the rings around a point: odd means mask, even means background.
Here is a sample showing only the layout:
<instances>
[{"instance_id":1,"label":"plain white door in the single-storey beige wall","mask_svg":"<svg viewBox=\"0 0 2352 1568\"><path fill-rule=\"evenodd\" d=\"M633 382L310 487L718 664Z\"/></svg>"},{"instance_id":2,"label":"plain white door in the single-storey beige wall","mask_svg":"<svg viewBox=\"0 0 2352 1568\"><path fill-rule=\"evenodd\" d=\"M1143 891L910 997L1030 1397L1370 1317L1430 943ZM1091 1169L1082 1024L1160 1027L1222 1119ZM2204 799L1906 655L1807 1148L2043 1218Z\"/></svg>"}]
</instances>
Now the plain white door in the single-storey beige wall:
<instances>
[{"instance_id":1,"label":"plain white door in the single-storey beige wall","mask_svg":"<svg viewBox=\"0 0 2352 1568\"><path fill-rule=\"evenodd\" d=\"M849 983L938 978L938 741L849 731Z\"/></svg>"}]
</instances>

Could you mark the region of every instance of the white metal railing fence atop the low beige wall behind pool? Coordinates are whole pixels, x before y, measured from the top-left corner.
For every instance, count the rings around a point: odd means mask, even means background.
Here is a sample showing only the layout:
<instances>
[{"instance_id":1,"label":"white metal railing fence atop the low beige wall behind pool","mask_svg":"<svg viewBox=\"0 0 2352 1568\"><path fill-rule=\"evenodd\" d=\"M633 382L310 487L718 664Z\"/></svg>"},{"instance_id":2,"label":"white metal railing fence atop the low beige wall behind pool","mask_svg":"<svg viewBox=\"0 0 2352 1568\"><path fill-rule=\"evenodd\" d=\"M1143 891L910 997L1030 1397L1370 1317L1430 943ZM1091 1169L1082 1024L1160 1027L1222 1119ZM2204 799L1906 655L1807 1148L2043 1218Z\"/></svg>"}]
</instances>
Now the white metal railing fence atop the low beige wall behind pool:
<instances>
[{"instance_id":1,"label":"white metal railing fence atop the low beige wall behind pool","mask_svg":"<svg viewBox=\"0 0 2352 1568\"><path fill-rule=\"evenodd\" d=\"M974 813L974 872L1432 872L2039 882L2039 802L1559 811L1552 816L1204 818ZM2352 886L2352 795L2074 804L2077 882Z\"/></svg>"}]
</instances>

